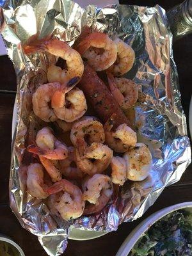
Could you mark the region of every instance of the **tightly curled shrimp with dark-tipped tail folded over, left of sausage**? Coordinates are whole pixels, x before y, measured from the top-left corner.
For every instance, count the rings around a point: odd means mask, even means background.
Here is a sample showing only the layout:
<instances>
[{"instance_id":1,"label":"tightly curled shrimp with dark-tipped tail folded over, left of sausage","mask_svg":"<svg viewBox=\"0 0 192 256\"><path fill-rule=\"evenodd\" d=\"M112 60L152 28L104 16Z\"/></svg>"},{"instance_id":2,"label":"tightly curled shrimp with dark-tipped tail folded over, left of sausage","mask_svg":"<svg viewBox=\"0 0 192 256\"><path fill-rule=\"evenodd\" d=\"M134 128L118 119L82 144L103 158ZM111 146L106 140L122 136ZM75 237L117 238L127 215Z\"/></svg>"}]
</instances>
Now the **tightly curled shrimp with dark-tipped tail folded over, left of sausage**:
<instances>
[{"instance_id":1,"label":"tightly curled shrimp with dark-tipped tail folded over, left of sausage","mask_svg":"<svg viewBox=\"0 0 192 256\"><path fill-rule=\"evenodd\" d=\"M83 91L79 88L71 90L68 86L54 93L51 106L56 116L66 122L74 122L83 116L87 110Z\"/></svg>"}]
</instances>

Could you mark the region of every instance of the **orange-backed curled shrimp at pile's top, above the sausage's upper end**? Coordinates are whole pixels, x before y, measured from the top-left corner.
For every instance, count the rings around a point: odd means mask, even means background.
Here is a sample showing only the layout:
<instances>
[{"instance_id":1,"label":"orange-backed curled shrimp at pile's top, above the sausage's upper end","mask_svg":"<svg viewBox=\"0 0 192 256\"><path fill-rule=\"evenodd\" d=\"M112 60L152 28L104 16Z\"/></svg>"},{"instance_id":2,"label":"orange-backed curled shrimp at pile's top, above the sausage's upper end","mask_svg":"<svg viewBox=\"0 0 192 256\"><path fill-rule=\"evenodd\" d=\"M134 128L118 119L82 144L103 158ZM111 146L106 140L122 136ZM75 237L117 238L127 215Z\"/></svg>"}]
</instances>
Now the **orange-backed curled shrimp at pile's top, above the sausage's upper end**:
<instances>
[{"instance_id":1,"label":"orange-backed curled shrimp at pile's top, above the sausage's upper end","mask_svg":"<svg viewBox=\"0 0 192 256\"><path fill-rule=\"evenodd\" d=\"M96 71L106 70L116 61L116 44L104 33L86 36L77 51Z\"/></svg>"}]
</instances>

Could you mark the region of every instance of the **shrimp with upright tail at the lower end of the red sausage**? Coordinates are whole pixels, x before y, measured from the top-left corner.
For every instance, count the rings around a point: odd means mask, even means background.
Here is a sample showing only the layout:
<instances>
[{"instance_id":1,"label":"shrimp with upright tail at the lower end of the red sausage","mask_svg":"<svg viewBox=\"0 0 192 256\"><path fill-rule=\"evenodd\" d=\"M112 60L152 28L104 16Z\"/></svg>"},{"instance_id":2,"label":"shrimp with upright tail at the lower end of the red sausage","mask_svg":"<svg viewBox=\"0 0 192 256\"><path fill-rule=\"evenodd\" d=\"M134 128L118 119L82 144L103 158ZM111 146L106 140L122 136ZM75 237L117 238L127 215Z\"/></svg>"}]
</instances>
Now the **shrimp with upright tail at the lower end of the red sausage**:
<instances>
[{"instance_id":1,"label":"shrimp with upright tail at the lower end of the red sausage","mask_svg":"<svg viewBox=\"0 0 192 256\"><path fill-rule=\"evenodd\" d=\"M129 147L134 147L136 145L136 132L126 124L120 124L115 131L112 131L114 120L115 114L112 115L104 125L106 143L109 147L113 148L115 152L123 153L127 151Z\"/></svg>"}]
</instances>

